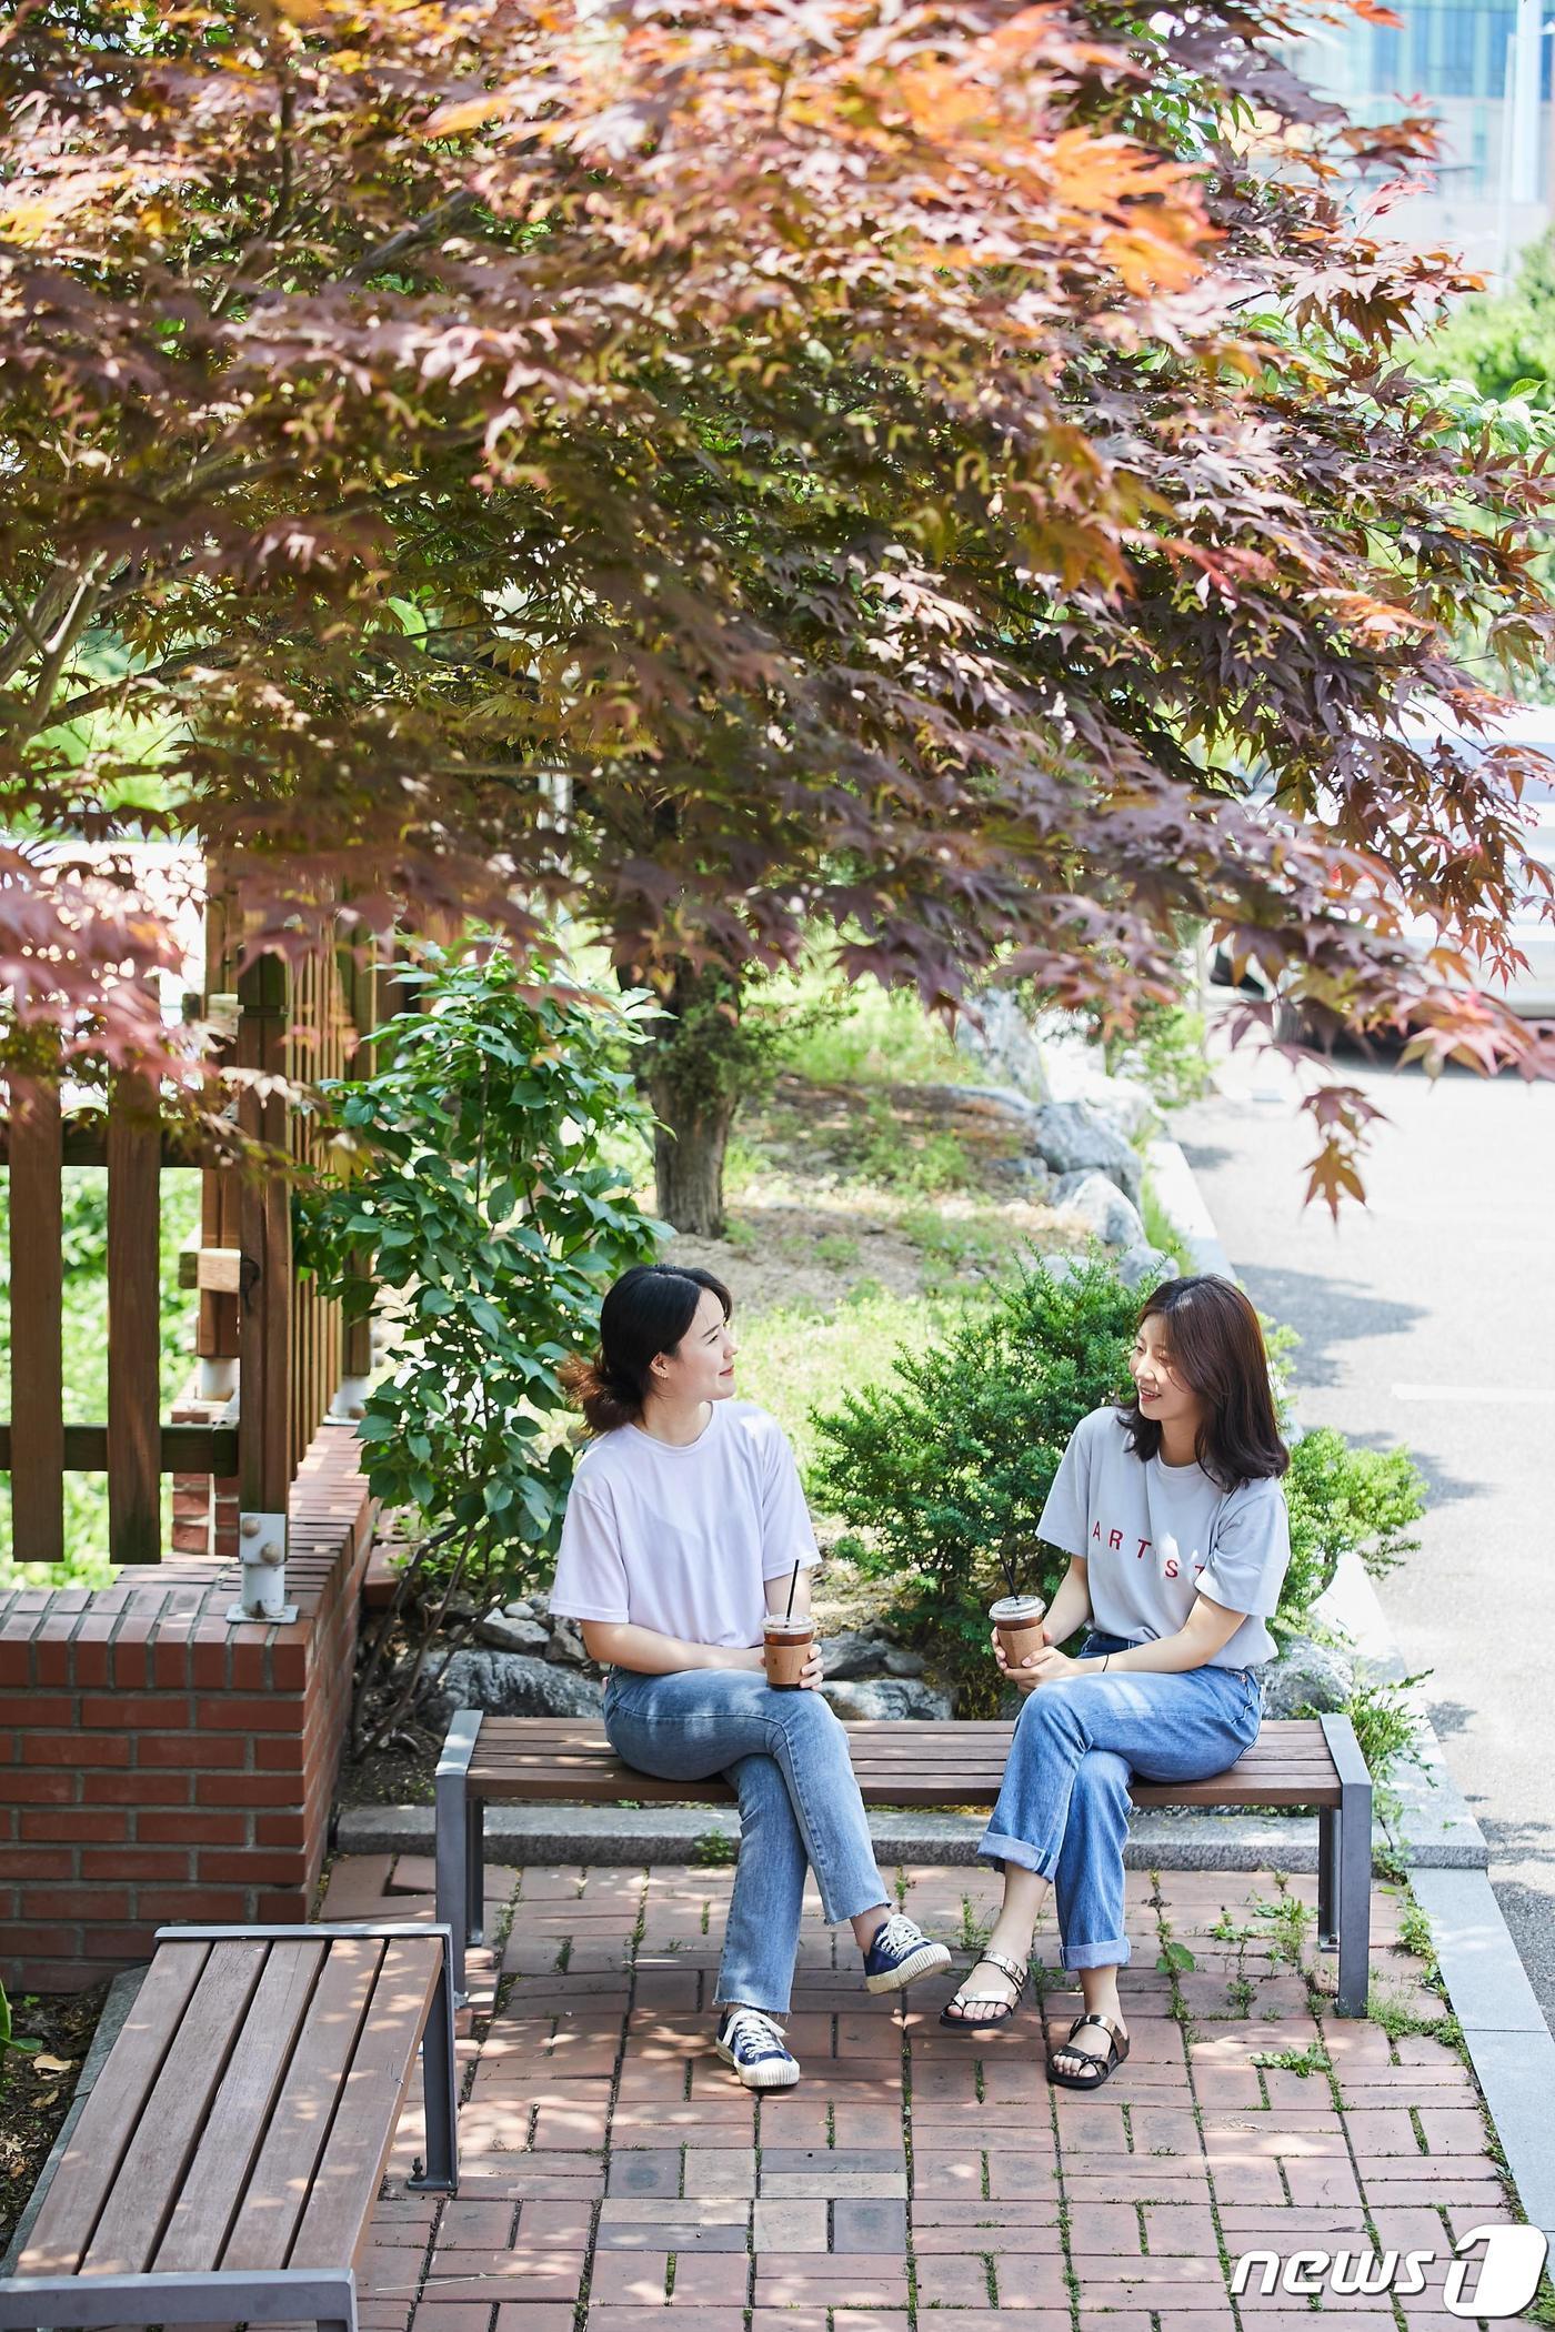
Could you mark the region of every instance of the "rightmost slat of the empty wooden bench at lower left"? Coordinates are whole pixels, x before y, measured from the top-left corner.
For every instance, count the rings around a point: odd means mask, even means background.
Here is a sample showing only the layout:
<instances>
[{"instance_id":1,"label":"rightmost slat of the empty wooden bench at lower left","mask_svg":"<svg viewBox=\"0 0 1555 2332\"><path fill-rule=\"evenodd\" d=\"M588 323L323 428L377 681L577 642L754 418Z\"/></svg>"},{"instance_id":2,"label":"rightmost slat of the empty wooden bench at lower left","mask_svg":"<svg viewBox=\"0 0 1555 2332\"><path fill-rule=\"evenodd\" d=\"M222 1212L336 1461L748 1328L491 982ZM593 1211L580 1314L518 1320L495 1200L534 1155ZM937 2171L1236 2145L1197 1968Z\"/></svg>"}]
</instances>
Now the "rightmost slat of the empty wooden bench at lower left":
<instances>
[{"instance_id":1,"label":"rightmost slat of the empty wooden bench at lower left","mask_svg":"<svg viewBox=\"0 0 1555 2332\"><path fill-rule=\"evenodd\" d=\"M438 1936L396 1936L387 1947L289 2267L333 2267L354 2257L394 2145L441 1964ZM389 2082L399 2103L385 2120Z\"/></svg>"}]
</instances>

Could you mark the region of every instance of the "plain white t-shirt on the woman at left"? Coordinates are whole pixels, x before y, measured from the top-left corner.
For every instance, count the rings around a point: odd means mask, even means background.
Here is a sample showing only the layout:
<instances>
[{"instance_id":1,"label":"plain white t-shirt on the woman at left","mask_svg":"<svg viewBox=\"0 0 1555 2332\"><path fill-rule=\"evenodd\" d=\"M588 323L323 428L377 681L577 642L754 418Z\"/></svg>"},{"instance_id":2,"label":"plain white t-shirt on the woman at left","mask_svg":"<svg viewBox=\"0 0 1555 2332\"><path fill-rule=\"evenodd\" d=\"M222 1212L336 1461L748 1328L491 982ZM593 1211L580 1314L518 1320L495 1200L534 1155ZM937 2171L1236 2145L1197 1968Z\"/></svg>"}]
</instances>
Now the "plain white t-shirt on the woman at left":
<instances>
[{"instance_id":1,"label":"plain white t-shirt on the woman at left","mask_svg":"<svg viewBox=\"0 0 1555 2332\"><path fill-rule=\"evenodd\" d=\"M783 1427L755 1402L713 1402L702 1434L678 1448L641 1425L587 1446L550 1609L748 1646L762 1639L765 1581L818 1560Z\"/></svg>"}]
</instances>

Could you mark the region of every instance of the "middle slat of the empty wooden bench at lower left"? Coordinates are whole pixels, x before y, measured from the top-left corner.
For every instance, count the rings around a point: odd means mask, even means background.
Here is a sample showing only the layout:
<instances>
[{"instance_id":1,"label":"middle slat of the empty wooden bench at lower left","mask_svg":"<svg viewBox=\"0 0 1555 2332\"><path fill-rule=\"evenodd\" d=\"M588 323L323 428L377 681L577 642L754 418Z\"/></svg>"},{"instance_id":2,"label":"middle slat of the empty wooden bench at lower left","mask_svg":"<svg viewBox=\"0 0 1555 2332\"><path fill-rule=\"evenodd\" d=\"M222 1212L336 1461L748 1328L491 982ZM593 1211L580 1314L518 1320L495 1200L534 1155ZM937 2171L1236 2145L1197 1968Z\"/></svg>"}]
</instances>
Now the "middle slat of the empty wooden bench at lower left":
<instances>
[{"instance_id":1,"label":"middle slat of the empty wooden bench at lower left","mask_svg":"<svg viewBox=\"0 0 1555 2332\"><path fill-rule=\"evenodd\" d=\"M322 1936L270 1945L238 2047L156 2248L161 2274L203 2274L217 2267L326 1957L329 1943Z\"/></svg>"}]
</instances>

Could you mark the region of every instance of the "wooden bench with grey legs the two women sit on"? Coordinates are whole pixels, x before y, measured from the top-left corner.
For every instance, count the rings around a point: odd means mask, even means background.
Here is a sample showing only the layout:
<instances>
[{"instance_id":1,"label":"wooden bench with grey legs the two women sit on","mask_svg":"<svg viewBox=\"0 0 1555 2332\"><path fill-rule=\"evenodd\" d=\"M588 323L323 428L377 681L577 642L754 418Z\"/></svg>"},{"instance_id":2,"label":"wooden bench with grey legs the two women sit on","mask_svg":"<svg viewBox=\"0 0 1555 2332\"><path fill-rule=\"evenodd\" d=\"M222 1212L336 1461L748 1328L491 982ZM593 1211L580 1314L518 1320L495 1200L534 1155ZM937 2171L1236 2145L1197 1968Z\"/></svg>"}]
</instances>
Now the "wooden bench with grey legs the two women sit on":
<instances>
[{"instance_id":1,"label":"wooden bench with grey legs the two women sit on","mask_svg":"<svg viewBox=\"0 0 1555 2332\"><path fill-rule=\"evenodd\" d=\"M1012 1723L851 1723L865 1805L993 1805ZM459 1709L436 1777L438 1919L480 1940L487 1805L702 1805L727 1782L657 1782L622 1765L599 1723L560 1716L483 1716ZM1252 1749L1208 1782L1135 1782L1135 1805L1315 1805L1317 1938L1338 1945L1338 2013L1366 2015L1371 1952L1371 1775L1348 1716L1266 1723Z\"/></svg>"}]
</instances>

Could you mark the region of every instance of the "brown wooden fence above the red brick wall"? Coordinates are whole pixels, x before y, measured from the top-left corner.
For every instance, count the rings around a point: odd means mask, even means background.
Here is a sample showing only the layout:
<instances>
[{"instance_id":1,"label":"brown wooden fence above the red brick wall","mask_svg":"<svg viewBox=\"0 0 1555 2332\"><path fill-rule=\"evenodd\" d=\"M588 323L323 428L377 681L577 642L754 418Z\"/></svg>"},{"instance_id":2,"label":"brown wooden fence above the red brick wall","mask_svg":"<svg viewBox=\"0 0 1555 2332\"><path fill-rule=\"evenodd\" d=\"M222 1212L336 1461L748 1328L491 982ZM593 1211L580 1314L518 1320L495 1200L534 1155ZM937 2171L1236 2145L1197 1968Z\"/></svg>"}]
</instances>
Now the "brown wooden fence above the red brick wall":
<instances>
[{"instance_id":1,"label":"brown wooden fence above the red brick wall","mask_svg":"<svg viewBox=\"0 0 1555 2332\"><path fill-rule=\"evenodd\" d=\"M231 986L226 984L231 979ZM350 951L322 949L296 972L263 956L233 970L221 898L207 909L207 1010L238 998L233 1059L298 1082L350 1075L373 1026L378 977ZM12 1175L12 1416L0 1471L12 1476L16 1560L65 1553L65 1474L107 1474L107 1551L159 1562L161 1476L238 1476L240 1506L284 1513L298 1460L343 1378L368 1374L368 1325L296 1278L284 1175L212 1166L163 1126L145 1077L119 1075L107 1112L65 1112L58 1080L9 1077L0 1164ZM312 1157L315 1122L282 1096L245 1091L240 1126ZM63 1416L63 1168L107 1168L107 1420ZM161 1416L161 1175L200 1173L200 1243L180 1266L200 1290L196 1355L235 1364L235 1425L173 1425ZM219 1378L219 1369L214 1376Z\"/></svg>"}]
</instances>

